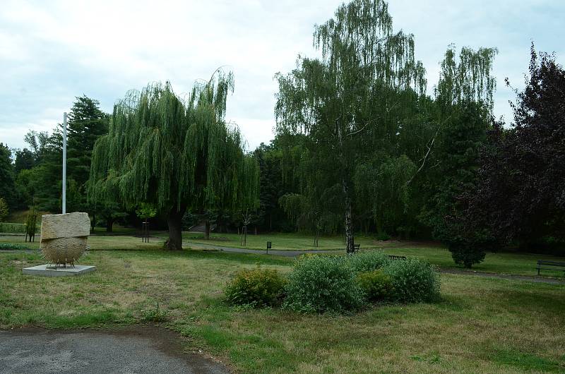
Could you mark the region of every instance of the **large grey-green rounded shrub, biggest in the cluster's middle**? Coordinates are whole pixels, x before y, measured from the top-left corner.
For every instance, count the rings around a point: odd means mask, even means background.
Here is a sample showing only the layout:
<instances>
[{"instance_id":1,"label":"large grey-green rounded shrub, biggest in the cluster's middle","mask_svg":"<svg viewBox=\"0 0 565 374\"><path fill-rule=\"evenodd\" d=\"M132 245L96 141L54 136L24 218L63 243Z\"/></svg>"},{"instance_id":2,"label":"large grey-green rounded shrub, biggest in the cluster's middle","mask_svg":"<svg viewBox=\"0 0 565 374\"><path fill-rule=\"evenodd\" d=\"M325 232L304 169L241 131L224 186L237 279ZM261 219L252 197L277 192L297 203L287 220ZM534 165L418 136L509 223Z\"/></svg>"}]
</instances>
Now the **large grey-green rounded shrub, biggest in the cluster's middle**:
<instances>
[{"instance_id":1,"label":"large grey-green rounded shrub, biggest in the cluster's middle","mask_svg":"<svg viewBox=\"0 0 565 374\"><path fill-rule=\"evenodd\" d=\"M299 258L285 291L285 307L304 313L344 313L362 306L364 299L348 261L325 255Z\"/></svg>"}]
</instances>

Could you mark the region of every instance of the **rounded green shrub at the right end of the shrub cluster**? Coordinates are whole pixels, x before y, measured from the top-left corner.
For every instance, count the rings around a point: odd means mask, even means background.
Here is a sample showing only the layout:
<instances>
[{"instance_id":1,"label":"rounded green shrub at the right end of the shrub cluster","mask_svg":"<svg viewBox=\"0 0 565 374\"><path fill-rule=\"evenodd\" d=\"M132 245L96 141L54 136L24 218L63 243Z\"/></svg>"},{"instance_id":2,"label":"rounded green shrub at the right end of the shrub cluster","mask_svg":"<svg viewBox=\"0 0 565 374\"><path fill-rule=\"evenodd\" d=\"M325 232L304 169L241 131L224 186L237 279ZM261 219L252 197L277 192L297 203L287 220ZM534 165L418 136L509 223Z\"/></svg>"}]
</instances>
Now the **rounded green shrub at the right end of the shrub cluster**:
<instances>
[{"instance_id":1,"label":"rounded green shrub at the right end of the shrub cluster","mask_svg":"<svg viewBox=\"0 0 565 374\"><path fill-rule=\"evenodd\" d=\"M391 260L383 266L383 272L392 279L396 301L439 299L439 273L427 262L414 258Z\"/></svg>"}]
</instances>

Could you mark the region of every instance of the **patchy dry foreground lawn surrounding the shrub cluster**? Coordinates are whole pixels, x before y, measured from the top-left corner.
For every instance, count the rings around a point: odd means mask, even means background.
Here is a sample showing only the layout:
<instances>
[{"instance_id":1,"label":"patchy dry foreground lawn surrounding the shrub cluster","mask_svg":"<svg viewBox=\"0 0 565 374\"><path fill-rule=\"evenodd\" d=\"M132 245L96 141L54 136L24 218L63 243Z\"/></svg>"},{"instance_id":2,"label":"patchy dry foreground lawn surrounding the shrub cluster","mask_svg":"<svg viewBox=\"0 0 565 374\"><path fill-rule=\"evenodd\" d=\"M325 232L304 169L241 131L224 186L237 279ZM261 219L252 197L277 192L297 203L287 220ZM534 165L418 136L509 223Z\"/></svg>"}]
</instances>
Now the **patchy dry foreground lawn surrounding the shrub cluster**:
<instances>
[{"instance_id":1,"label":"patchy dry foreground lawn surrounding the shrub cluster","mask_svg":"<svg viewBox=\"0 0 565 374\"><path fill-rule=\"evenodd\" d=\"M241 373L564 373L565 286L441 275L443 301L355 315L244 310L222 301L243 267L292 260L184 251L92 251L81 277L23 275L33 253L0 253L0 327L131 325L164 317ZM157 313L157 303L159 313Z\"/></svg>"}]
</instances>

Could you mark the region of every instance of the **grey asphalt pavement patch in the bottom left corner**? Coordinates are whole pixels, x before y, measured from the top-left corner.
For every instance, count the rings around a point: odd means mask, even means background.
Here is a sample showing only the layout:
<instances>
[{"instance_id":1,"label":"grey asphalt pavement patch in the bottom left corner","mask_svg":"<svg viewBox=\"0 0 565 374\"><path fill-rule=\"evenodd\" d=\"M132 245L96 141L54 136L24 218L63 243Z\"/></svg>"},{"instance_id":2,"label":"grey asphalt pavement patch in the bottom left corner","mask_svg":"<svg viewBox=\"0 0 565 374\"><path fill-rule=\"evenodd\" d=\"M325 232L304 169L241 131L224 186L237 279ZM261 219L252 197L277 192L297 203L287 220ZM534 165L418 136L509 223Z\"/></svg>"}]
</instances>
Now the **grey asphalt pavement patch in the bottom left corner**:
<instances>
[{"instance_id":1,"label":"grey asphalt pavement patch in the bottom left corner","mask_svg":"<svg viewBox=\"0 0 565 374\"><path fill-rule=\"evenodd\" d=\"M156 327L0 331L0 373L229 373Z\"/></svg>"}]
</instances>

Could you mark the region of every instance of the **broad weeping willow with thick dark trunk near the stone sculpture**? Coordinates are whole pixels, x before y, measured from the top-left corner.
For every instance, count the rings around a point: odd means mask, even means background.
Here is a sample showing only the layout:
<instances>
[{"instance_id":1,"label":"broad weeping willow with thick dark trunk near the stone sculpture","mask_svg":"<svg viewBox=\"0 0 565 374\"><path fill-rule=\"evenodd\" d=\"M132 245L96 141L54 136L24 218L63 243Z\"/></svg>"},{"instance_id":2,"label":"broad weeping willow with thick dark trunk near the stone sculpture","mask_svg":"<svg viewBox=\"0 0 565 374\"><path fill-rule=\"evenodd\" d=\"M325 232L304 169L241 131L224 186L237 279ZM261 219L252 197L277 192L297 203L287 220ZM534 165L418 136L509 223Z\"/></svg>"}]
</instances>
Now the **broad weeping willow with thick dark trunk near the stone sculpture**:
<instances>
[{"instance_id":1,"label":"broad weeping willow with thick dark trunk near the stone sculpture","mask_svg":"<svg viewBox=\"0 0 565 374\"><path fill-rule=\"evenodd\" d=\"M232 73L218 70L186 99L169 83L130 91L114 106L107 135L93 150L88 197L93 203L141 203L167 217L165 247L182 249L187 208L244 209L258 204L258 164L235 127L224 121Z\"/></svg>"}]
</instances>

